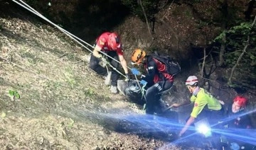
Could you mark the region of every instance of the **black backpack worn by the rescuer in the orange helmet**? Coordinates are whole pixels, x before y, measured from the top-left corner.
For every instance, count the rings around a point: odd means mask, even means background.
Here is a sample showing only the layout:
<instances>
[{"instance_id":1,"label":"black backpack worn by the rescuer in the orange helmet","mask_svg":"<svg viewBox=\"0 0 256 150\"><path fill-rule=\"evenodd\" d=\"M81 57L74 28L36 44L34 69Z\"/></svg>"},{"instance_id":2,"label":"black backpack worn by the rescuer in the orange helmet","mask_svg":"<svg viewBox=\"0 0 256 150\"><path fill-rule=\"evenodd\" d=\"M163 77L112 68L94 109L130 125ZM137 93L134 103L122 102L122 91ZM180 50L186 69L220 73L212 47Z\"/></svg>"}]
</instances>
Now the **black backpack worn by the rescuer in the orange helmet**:
<instances>
[{"instance_id":1,"label":"black backpack worn by the rescuer in the orange helmet","mask_svg":"<svg viewBox=\"0 0 256 150\"><path fill-rule=\"evenodd\" d=\"M157 52L155 52L154 54L151 54L151 56L154 59L157 59L157 60L159 60L159 62L166 65L166 73L167 74L171 74L171 76L174 76L174 75L178 74L178 72L181 71L181 66L178 64L178 62L176 62L171 57L159 55Z\"/></svg>"}]
</instances>

